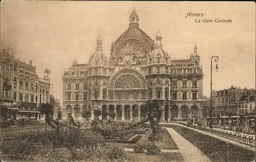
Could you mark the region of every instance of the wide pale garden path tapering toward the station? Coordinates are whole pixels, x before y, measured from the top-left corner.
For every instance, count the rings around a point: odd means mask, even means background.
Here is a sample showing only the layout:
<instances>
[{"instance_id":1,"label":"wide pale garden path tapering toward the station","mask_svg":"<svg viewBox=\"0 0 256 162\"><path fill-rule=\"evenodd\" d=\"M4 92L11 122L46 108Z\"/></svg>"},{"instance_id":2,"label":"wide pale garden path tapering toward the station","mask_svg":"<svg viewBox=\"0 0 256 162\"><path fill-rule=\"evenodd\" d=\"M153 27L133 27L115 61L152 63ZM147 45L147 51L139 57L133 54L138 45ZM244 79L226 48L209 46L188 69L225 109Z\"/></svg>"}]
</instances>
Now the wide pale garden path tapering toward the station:
<instances>
[{"instance_id":1,"label":"wide pale garden path tapering toward the station","mask_svg":"<svg viewBox=\"0 0 256 162\"><path fill-rule=\"evenodd\" d=\"M183 136L176 132L173 128L166 128L174 139L185 161L211 161L208 156L201 152L195 145L187 141Z\"/></svg>"}]
</instances>

